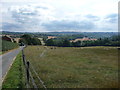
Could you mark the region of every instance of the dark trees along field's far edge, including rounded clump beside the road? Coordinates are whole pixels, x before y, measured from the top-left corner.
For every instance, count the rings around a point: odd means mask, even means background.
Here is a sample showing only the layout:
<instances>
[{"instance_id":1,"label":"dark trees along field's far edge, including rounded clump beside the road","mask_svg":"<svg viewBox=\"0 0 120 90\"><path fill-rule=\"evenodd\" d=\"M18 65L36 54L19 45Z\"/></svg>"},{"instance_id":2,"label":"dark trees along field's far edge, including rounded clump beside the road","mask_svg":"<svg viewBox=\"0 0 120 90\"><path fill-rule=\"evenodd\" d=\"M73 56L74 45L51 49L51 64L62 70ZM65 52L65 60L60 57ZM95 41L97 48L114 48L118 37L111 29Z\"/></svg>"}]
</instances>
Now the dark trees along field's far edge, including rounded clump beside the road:
<instances>
[{"instance_id":1,"label":"dark trees along field's far edge, including rounded clump beside the road","mask_svg":"<svg viewBox=\"0 0 120 90\"><path fill-rule=\"evenodd\" d=\"M109 38L99 38L96 41L77 41L70 42L71 37L61 37L54 39L43 38L46 46L58 46L58 47L86 47L86 46L119 46L120 35L115 35ZM41 41L29 34L21 36L20 44L27 45L41 45Z\"/></svg>"}]
</instances>

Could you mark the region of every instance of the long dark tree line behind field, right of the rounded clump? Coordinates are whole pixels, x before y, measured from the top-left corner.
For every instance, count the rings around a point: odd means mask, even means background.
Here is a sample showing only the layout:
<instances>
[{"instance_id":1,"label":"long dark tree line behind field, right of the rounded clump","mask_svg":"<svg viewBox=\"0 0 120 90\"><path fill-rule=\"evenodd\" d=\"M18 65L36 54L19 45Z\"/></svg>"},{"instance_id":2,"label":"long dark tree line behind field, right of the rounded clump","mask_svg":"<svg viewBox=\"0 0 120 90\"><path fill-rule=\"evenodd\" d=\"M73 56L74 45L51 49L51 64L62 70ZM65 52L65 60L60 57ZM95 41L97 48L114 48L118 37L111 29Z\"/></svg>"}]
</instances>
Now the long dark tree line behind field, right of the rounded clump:
<instances>
[{"instance_id":1,"label":"long dark tree line behind field, right of the rounded clump","mask_svg":"<svg viewBox=\"0 0 120 90\"><path fill-rule=\"evenodd\" d=\"M70 42L68 38L45 40L46 46L59 47L85 47L85 46L120 46L120 35L110 38L99 38L96 41L77 41Z\"/></svg>"}]
</instances>

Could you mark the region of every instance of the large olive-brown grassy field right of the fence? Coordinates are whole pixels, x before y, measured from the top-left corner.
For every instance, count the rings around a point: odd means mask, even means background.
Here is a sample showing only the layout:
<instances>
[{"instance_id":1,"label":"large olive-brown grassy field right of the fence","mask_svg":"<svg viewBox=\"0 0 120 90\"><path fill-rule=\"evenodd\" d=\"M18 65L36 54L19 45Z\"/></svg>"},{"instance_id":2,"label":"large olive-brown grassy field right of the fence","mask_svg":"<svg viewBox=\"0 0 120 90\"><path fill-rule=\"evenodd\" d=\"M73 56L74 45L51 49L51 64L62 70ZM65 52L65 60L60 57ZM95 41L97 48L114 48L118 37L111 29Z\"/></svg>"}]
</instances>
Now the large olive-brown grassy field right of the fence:
<instances>
[{"instance_id":1,"label":"large olive-brown grassy field right of the fence","mask_svg":"<svg viewBox=\"0 0 120 90\"><path fill-rule=\"evenodd\" d=\"M118 49L28 46L29 60L47 88L117 88Z\"/></svg>"}]
</instances>

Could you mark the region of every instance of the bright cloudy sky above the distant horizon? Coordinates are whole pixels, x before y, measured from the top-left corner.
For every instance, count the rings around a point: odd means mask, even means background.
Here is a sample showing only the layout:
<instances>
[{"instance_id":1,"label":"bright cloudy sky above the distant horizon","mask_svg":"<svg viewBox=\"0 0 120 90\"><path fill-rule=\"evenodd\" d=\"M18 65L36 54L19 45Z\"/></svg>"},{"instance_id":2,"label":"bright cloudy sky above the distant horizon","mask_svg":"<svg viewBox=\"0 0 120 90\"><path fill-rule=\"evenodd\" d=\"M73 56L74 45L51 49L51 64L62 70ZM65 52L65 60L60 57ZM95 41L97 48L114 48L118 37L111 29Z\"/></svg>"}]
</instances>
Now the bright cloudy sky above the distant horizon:
<instances>
[{"instance_id":1,"label":"bright cloudy sky above the distant horizon","mask_svg":"<svg viewBox=\"0 0 120 90\"><path fill-rule=\"evenodd\" d=\"M1 0L0 30L117 32L119 0Z\"/></svg>"}]
</instances>

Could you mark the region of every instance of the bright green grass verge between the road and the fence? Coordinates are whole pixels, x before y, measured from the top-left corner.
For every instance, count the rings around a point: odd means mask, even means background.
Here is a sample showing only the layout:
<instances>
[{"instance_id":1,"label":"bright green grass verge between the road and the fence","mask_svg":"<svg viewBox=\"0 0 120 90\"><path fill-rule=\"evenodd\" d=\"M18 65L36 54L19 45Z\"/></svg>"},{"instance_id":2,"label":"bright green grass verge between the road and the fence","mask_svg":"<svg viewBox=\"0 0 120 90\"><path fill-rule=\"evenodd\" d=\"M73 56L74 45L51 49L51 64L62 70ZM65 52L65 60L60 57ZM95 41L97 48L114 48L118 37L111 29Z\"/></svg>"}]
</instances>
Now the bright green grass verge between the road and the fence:
<instances>
[{"instance_id":1,"label":"bright green grass verge between the road and the fence","mask_svg":"<svg viewBox=\"0 0 120 90\"><path fill-rule=\"evenodd\" d=\"M9 70L5 80L3 81L2 88L24 88L23 66L21 60L21 53L16 57L11 69Z\"/></svg>"}]
</instances>

